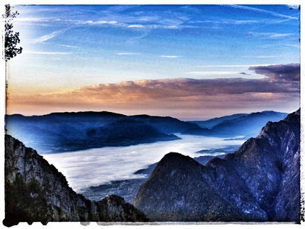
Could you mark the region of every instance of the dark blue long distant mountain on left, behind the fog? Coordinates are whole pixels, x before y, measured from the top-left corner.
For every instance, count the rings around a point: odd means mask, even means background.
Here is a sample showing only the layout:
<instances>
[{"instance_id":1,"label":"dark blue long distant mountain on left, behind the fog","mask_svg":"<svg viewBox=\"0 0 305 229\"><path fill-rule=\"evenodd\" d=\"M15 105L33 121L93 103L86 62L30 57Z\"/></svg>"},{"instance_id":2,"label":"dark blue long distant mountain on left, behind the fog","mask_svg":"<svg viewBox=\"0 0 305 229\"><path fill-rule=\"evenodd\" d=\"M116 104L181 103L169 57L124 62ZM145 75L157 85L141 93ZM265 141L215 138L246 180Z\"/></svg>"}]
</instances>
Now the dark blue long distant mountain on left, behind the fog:
<instances>
[{"instance_id":1,"label":"dark blue long distant mountain on left, behind the fog","mask_svg":"<svg viewBox=\"0 0 305 229\"><path fill-rule=\"evenodd\" d=\"M179 139L146 123L110 112L6 116L7 133L39 152L85 150Z\"/></svg>"}]
</instances>

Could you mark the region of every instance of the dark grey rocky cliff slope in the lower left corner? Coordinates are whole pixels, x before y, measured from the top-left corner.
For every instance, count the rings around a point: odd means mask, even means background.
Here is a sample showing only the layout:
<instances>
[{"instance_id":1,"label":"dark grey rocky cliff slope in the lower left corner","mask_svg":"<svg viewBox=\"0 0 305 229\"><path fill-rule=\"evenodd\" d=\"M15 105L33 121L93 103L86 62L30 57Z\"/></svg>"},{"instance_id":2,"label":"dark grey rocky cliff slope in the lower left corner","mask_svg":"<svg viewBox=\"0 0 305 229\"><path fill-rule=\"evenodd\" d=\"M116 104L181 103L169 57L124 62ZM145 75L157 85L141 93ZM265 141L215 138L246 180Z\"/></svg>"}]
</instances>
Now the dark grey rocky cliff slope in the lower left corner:
<instances>
[{"instance_id":1,"label":"dark grey rocky cliff slope in the lower left corner","mask_svg":"<svg viewBox=\"0 0 305 229\"><path fill-rule=\"evenodd\" d=\"M5 219L18 222L148 221L120 196L89 201L76 194L64 175L23 143L5 136Z\"/></svg>"}]
</instances>

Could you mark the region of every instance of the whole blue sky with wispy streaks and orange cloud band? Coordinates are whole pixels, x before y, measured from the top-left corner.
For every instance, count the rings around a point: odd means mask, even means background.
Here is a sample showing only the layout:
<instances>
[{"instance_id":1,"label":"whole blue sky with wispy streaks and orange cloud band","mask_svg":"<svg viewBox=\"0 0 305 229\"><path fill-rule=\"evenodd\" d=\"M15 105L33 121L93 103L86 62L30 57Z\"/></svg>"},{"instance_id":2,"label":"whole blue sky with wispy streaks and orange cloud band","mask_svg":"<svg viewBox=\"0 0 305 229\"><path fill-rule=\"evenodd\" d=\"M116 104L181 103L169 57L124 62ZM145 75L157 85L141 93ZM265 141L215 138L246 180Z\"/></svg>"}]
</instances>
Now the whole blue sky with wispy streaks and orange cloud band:
<instances>
[{"instance_id":1,"label":"whole blue sky with wispy streaks and orange cloud band","mask_svg":"<svg viewBox=\"0 0 305 229\"><path fill-rule=\"evenodd\" d=\"M6 113L205 120L300 106L295 5L16 5Z\"/></svg>"}]
</instances>

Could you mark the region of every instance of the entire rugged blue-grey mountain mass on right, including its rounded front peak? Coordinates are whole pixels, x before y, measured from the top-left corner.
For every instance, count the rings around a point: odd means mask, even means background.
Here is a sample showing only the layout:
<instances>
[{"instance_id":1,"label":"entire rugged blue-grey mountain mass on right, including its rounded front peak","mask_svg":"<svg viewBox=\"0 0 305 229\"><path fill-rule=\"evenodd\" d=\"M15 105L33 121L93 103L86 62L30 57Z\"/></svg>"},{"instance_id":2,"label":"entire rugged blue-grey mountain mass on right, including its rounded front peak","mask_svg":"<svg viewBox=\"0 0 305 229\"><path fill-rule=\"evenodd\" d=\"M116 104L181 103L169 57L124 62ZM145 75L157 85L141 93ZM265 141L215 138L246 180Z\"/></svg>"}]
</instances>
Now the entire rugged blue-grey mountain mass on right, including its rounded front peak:
<instances>
[{"instance_id":1,"label":"entire rugged blue-grey mountain mass on right, including its rounded front peak","mask_svg":"<svg viewBox=\"0 0 305 229\"><path fill-rule=\"evenodd\" d=\"M171 152L134 206L155 221L300 222L300 110L206 166Z\"/></svg>"}]
</instances>

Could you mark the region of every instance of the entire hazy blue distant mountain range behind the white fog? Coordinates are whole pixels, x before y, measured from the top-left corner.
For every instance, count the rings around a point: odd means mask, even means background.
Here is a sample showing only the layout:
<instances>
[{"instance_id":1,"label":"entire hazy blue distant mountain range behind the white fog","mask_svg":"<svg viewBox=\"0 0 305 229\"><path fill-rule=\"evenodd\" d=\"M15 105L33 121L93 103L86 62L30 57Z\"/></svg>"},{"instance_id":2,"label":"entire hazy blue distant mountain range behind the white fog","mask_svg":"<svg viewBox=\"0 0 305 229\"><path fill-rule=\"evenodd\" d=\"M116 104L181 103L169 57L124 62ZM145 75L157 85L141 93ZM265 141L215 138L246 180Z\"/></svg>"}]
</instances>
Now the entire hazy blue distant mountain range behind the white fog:
<instances>
[{"instance_id":1,"label":"entire hazy blue distant mountain range behind the white fog","mask_svg":"<svg viewBox=\"0 0 305 229\"><path fill-rule=\"evenodd\" d=\"M65 152L178 140L175 133L225 138L235 135L251 137L267 121L279 121L282 116L283 113L263 111L225 116L216 122L191 123L172 117L125 116L108 111L50 113L44 116L15 114L6 116L6 133L41 153ZM206 123L214 123L213 128L203 127Z\"/></svg>"}]
</instances>

